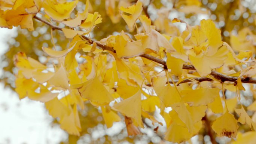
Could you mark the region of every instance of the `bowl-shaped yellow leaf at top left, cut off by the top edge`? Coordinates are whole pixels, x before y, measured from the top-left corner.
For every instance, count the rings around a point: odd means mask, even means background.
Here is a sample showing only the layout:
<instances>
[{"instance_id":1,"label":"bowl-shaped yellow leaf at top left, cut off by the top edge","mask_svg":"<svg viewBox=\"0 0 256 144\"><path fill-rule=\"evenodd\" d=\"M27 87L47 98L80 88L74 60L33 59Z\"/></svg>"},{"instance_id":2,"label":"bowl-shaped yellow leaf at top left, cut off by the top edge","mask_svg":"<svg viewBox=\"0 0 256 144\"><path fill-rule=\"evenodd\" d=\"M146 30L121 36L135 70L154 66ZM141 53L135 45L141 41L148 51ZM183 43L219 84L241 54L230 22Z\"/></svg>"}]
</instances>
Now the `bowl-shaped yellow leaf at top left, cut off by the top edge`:
<instances>
[{"instance_id":1,"label":"bowl-shaped yellow leaf at top left, cut off by the top edge","mask_svg":"<svg viewBox=\"0 0 256 144\"><path fill-rule=\"evenodd\" d=\"M54 21L62 22L70 17L71 12L76 7L78 0L71 2L58 3L57 0L45 0L43 8L45 13Z\"/></svg>"}]
</instances>

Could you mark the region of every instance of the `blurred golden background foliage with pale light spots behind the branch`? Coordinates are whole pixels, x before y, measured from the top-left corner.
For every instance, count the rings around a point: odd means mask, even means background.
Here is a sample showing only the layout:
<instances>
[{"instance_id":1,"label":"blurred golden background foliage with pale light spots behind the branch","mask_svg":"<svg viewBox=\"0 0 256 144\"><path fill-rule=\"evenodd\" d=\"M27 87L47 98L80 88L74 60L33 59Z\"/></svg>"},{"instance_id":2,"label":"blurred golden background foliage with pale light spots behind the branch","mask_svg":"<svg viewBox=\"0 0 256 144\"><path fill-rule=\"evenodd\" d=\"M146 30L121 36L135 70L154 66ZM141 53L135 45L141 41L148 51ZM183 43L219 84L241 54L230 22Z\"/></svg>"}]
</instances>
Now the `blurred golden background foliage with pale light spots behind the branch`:
<instances>
[{"instance_id":1,"label":"blurred golden background foliage with pale light spots behind the branch","mask_svg":"<svg viewBox=\"0 0 256 144\"><path fill-rule=\"evenodd\" d=\"M179 36L181 27L171 21L174 18L182 19L189 25L199 24L202 18L210 18L216 22L220 28L224 42L234 48L234 50L252 50L255 52L256 45L256 0L141 0L144 3L143 13L152 19L153 25L156 26L162 34L168 36ZM101 40L109 35L115 35L122 30L128 32L125 21L119 14L119 6L129 6L136 0L91 0L91 12L99 12L103 22L98 24L91 33L92 39ZM77 11L82 11L85 0L80 0L80 4L73 11L71 17L75 16ZM114 3L111 7L111 3ZM14 75L16 69L13 64L13 55L22 51L27 56L38 59L40 62L47 64L47 56L42 51L42 46L52 47L51 28L48 25L33 20L35 31L26 29L17 30L16 37L8 40L9 49L1 56L0 62L3 68L3 74L0 81L6 87L15 88ZM59 25L64 27L64 25ZM138 25L139 27L139 25ZM140 30L140 28L139 28ZM130 34L135 34L132 32ZM52 31L54 43L58 50L67 48L70 40L66 39L61 31ZM236 49L238 47L240 49ZM104 126L104 120L100 110L88 102L85 103L85 110L80 112L80 122L82 132L80 137L69 135L68 140L61 144L75 143L135 143L141 141L144 143L167 143L163 140L163 132L159 129L154 133L154 126L145 119L146 128L142 131L144 135L136 138L127 137L124 123L116 124L118 131L107 129ZM57 120L52 122L58 125ZM112 131L112 132L109 132ZM204 131L199 133L198 140L207 142ZM209 140L208 140L209 141ZM221 140L218 141L221 143ZM224 142L225 143L225 142Z\"/></svg>"}]
</instances>

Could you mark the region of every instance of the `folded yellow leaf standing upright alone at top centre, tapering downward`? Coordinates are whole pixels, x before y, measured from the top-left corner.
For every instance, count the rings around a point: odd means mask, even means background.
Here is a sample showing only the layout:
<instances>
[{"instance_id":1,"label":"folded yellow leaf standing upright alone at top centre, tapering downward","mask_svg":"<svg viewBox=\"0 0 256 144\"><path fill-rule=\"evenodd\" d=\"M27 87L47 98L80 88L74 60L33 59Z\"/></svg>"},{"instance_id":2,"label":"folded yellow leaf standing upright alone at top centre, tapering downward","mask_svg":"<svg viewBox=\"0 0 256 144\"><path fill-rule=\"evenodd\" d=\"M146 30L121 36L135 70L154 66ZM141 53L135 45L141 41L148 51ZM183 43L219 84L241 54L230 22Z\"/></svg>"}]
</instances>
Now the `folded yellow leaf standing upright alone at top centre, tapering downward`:
<instances>
[{"instance_id":1,"label":"folded yellow leaf standing upright alone at top centre, tapering downward","mask_svg":"<svg viewBox=\"0 0 256 144\"><path fill-rule=\"evenodd\" d=\"M121 15L127 23L129 30L133 31L134 24L137 21L143 9L142 3L140 2L140 0L138 0L135 5L129 6L127 8L120 7L119 9L123 12ZM125 13L128 13L129 15L125 15Z\"/></svg>"}]
</instances>

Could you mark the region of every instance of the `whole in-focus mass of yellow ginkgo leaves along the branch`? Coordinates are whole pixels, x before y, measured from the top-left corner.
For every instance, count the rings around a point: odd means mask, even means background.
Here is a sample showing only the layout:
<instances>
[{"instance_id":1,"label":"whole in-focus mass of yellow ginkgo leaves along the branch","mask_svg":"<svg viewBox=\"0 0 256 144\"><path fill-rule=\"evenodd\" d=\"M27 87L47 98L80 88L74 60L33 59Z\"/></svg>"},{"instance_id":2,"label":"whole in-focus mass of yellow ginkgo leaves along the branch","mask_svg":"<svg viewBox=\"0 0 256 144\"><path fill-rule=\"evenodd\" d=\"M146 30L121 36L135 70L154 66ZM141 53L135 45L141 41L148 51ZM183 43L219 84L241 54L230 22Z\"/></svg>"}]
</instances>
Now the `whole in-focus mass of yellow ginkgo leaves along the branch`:
<instances>
[{"instance_id":1,"label":"whole in-focus mass of yellow ginkgo leaves along the branch","mask_svg":"<svg viewBox=\"0 0 256 144\"><path fill-rule=\"evenodd\" d=\"M67 26L62 31L65 37L72 39L69 48L61 51L42 48L50 59L57 61L52 61L52 64L49 61L48 65L43 65L22 52L15 56L15 65L19 69L15 90L20 99L27 96L45 102L49 114L58 118L60 127L73 135L80 135L78 111L84 108L85 101L101 108L107 128L121 121L121 115L124 116L128 135L140 134L138 128L144 128L143 119L146 118L153 125L162 125L154 117L156 107L161 110L167 126L165 139L172 142L181 143L198 134L203 128L202 118L210 114L215 116L212 129L218 136L236 137L237 122L255 129L255 122L243 107L234 109L236 98L226 100L225 92L219 94L222 87L233 92L236 89L245 90L241 77L256 75L255 67L242 68L242 65L255 62L252 52L235 53L227 43L222 42L220 30L210 19L203 19L200 25L192 27L187 24L182 33L165 35L159 33L151 19L142 14L143 3L140 0L129 7L126 7L126 2L120 1L120 14L117 13L115 0L107 1L110 19L117 22L122 17L129 31L136 28L135 39L124 31L97 42L80 37L89 36L102 20L98 12L89 13L88 0L85 10L78 12L73 19L70 14L78 0L8 1L9 7L0 11L1 27L21 25L21 28L33 30L32 18L43 7L44 16ZM201 4L185 0L180 1L178 6L183 2L188 6ZM16 15L21 21L9 19ZM159 26L160 21L158 19L156 25ZM179 19L173 22L184 23ZM247 34L250 33L247 31L238 36L245 38ZM232 39L237 42L235 36ZM102 52L97 45L113 48L115 52ZM166 59L168 70L143 58L145 55ZM184 64L193 65L195 70L184 70ZM209 75L213 70L239 79L236 83L220 86L220 82ZM215 80L215 85L211 82L198 83L193 80L197 77L211 78ZM180 83L185 79L192 82ZM224 110L222 101L225 102ZM229 106L232 108L229 109ZM169 107L172 110L166 113L165 108ZM256 110L254 103L249 110ZM232 114L234 111L239 115L238 120Z\"/></svg>"}]
</instances>

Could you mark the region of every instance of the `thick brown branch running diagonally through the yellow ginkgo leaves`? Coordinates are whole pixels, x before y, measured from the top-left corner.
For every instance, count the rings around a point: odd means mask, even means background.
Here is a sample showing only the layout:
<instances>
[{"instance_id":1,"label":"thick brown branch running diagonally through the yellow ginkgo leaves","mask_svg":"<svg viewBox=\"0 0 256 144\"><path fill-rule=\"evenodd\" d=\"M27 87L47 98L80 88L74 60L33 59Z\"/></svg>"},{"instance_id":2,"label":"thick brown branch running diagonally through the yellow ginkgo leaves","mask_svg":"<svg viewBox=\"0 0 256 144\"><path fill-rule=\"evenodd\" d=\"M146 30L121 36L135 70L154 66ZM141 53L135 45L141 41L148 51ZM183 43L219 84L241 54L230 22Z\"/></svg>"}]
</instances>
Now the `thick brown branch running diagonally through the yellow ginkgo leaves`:
<instances>
[{"instance_id":1,"label":"thick brown branch running diagonally through the yellow ginkgo leaves","mask_svg":"<svg viewBox=\"0 0 256 144\"><path fill-rule=\"evenodd\" d=\"M37 20L39 20L39 21L41 21L41 22L43 22L43 23L45 23L45 24L47 24L47 25L49 25L49 26L52 27L52 29L54 29L54 30L62 30L62 28L60 28L60 27L58 27L58 26L56 26L56 25L53 25L53 24L51 24L50 22L45 21L45 20L39 18L38 16L34 16L34 18L37 19ZM82 37L83 37L83 39L87 40L87 41L88 41L89 43L91 43L91 44L92 44L93 42L95 42L95 41L93 41L93 40L90 40L90 39L89 39L88 37L86 37L86 36L82 36ZM114 50L114 48L112 48L112 47L110 47L110 46L103 45L103 44L101 44L101 43L99 43L99 42L96 42L96 44L97 44L98 47L102 48L103 50L108 50L108 51L111 51L111 52L116 53L116 51ZM149 59L149 60L151 60L151 61L157 62L157 63L159 63L159 64L162 64L162 65L164 66L164 69L167 69L166 62L165 62L164 60L162 60L162 59L156 58L156 57L154 57L154 56L152 56L152 55L149 55L149 54L142 54L142 55L140 55L140 56L143 57L143 58L147 58L147 59ZM183 65L183 69L185 69L185 70L196 70L193 65ZM210 75L211 75L214 79L219 80L219 81L222 81L222 82L225 82L225 81L228 81L228 82L236 82L237 79L238 79L238 77L226 76L226 75L224 75L224 74L222 74L222 73L219 73L219 72L217 72L217 71L211 71ZM204 78L204 79L201 78L201 79L202 79L202 80L207 80L207 81L209 81L209 79L206 79L206 78ZM252 77L241 77L241 81L242 81L243 83L256 83L256 78L252 78Z\"/></svg>"}]
</instances>

